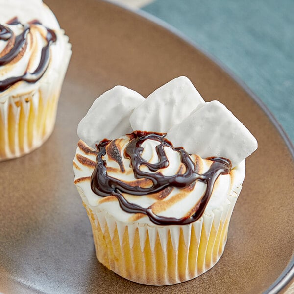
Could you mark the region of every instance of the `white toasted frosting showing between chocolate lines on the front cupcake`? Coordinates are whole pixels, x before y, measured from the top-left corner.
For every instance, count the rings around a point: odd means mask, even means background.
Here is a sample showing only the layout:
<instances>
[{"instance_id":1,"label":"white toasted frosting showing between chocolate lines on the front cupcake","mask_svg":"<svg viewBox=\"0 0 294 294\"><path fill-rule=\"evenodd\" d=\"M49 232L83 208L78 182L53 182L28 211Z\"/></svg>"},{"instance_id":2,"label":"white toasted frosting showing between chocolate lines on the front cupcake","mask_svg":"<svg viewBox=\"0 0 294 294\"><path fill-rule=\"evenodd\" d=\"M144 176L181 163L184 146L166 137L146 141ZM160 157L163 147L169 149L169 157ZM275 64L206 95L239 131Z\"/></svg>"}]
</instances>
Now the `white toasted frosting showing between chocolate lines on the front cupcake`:
<instances>
[{"instance_id":1,"label":"white toasted frosting showing between chocolate lines on the front cupcake","mask_svg":"<svg viewBox=\"0 0 294 294\"><path fill-rule=\"evenodd\" d=\"M137 179L133 174L133 169L130 165L130 160L128 158L125 158L125 156L123 155L124 149L128 142L129 137L123 136L122 138L120 138L121 157L123 159L123 166L125 168L125 172L121 172L118 163L113 159L109 158L108 155L105 155L103 157L103 160L105 160L106 167L109 169L107 170L107 174L109 176L131 184L132 181L137 181ZM146 140L145 143L141 146L144 148L142 157L150 163L155 163L158 161L157 153L155 150L155 147L157 145L158 143L153 140ZM164 175L177 174L181 164L178 152L172 150L172 148L170 147L165 147L165 152L171 164L167 168L160 169L157 172L161 172ZM83 161L80 160L81 157L87 158L95 163L96 155L94 153L86 154L81 148L78 147L76 149L76 156L73 161L75 183L79 188L81 188L89 204L91 206L106 210L118 221L133 222L135 214L127 213L123 209L121 209L118 200L112 199L111 201L107 201L107 198L98 196L92 191L90 187L90 177L94 170L94 165L88 166L84 164ZM197 166L199 166L200 168L199 173L201 174L205 173L212 164L212 161L204 160L195 155L192 155L191 158L195 162L197 161ZM146 167L144 167L144 170L145 172L152 173ZM244 177L245 161L243 161L240 165L235 167L230 172L230 174L220 175L215 183L213 193L206 206L204 213L209 215L213 209L220 207L222 204L226 203L228 195L233 193L235 188L242 184ZM79 180L82 178L86 179ZM144 182L144 184L146 184L146 182ZM206 184L202 181L196 181L196 184L191 191L188 191L186 189L173 188L172 192L166 198L163 199L161 199L158 196L155 197L152 195L135 196L126 193L122 193L122 195L130 203L137 204L143 208L151 207L152 211L159 216L182 218L185 217L194 206L196 206L196 204L201 199L205 191ZM147 216L141 217L136 221L139 223L152 223Z\"/></svg>"}]
</instances>

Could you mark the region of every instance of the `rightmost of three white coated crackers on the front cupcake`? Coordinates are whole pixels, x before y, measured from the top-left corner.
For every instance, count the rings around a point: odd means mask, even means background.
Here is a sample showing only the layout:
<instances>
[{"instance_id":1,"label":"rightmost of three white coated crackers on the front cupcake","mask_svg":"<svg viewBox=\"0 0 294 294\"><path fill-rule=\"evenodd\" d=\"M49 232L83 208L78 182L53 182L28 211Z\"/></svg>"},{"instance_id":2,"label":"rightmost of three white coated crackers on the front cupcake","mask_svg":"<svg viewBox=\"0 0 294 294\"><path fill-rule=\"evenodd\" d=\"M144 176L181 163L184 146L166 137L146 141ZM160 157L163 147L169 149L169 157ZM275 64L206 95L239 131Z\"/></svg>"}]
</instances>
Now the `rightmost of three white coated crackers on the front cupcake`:
<instances>
[{"instance_id":1,"label":"rightmost of three white coated crackers on the front cupcake","mask_svg":"<svg viewBox=\"0 0 294 294\"><path fill-rule=\"evenodd\" d=\"M207 102L167 133L174 147L202 158L230 159L232 167L257 149L249 130L221 102Z\"/></svg>"}]
</instances>

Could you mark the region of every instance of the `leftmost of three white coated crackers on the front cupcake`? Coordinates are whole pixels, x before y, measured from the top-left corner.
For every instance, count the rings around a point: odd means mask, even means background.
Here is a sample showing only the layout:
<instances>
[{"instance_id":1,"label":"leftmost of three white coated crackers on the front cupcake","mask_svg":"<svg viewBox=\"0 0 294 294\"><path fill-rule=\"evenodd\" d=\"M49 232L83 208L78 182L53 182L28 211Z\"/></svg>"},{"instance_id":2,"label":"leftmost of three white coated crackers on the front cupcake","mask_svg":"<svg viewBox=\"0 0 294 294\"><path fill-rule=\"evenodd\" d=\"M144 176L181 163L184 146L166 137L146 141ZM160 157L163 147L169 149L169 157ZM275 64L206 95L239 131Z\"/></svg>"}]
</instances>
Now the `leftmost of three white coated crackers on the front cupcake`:
<instances>
[{"instance_id":1,"label":"leftmost of three white coated crackers on the front cupcake","mask_svg":"<svg viewBox=\"0 0 294 294\"><path fill-rule=\"evenodd\" d=\"M145 98L124 86L115 86L98 97L77 127L77 135L95 148L103 139L116 139L131 133L129 117Z\"/></svg>"}]
</instances>

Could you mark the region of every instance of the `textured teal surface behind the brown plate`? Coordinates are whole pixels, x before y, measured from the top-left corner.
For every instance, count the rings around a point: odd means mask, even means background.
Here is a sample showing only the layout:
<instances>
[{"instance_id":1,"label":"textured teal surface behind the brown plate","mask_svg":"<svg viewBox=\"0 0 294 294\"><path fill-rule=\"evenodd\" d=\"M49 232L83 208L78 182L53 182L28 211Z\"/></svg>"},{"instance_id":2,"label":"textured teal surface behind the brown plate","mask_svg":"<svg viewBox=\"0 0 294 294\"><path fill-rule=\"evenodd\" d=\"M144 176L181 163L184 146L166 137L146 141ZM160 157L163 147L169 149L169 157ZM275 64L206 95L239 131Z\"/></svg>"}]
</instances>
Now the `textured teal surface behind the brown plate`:
<instances>
[{"instance_id":1,"label":"textured teal surface behind the brown plate","mask_svg":"<svg viewBox=\"0 0 294 294\"><path fill-rule=\"evenodd\" d=\"M143 10L243 80L294 143L294 0L157 0Z\"/></svg>"}]
</instances>

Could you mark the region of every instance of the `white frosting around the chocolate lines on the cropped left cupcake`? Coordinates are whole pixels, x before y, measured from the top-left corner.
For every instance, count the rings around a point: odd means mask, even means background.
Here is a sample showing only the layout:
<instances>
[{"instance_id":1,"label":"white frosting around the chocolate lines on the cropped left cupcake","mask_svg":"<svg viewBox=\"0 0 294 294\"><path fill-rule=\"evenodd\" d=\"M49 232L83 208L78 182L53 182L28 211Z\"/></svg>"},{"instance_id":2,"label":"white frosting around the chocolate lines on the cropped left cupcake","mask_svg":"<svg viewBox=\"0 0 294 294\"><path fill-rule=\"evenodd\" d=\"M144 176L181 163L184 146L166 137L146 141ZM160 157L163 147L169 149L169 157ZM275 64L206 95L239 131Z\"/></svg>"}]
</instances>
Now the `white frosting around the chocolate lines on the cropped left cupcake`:
<instances>
[{"instance_id":1,"label":"white frosting around the chocolate lines on the cropped left cupcake","mask_svg":"<svg viewBox=\"0 0 294 294\"><path fill-rule=\"evenodd\" d=\"M70 45L68 37L60 29L58 22L50 9L41 0L0 0L0 23L9 27L15 35L23 31L22 25L7 25L6 22L17 17L22 24L32 20L38 20L42 25L32 25L27 36L27 46L22 54L6 65L0 66L0 80L14 76L22 76L26 70L32 73L40 62L41 50L46 45L46 29L54 29L57 40L50 46L50 60L46 73L35 83L20 81L0 92L0 102L4 103L9 96L20 96L35 91L40 82L49 76L52 79L59 74L60 66L64 62L65 55L69 55ZM0 53L8 41L0 40Z\"/></svg>"}]
</instances>

